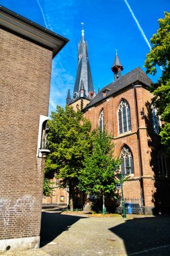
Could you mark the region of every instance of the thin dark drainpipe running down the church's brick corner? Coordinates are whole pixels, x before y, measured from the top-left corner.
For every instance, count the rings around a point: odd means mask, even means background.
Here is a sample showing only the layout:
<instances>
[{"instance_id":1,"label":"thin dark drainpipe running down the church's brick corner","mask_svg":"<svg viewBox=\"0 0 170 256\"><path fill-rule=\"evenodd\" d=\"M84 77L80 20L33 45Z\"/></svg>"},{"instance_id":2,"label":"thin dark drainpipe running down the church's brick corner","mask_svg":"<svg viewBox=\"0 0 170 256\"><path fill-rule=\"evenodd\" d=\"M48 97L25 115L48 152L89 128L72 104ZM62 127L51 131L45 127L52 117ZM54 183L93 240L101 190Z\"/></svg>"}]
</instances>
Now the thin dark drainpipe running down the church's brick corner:
<instances>
[{"instance_id":1,"label":"thin dark drainpipe running down the church's brick corner","mask_svg":"<svg viewBox=\"0 0 170 256\"><path fill-rule=\"evenodd\" d=\"M134 86L134 84L132 84ZM141 146L140 146L140 133L139 133L139 121L138 121L138 102L136 97L136 86L134 86L134 103L135 103L135 115L136 115L136 121L137 121L137 142L138 142L138 159L139 159L139 169L140 169L140 197L142 202L144 203L144 193L143 193L143 170L142 170L142 152L141 152Z\"/></svg>"}]
</instances>

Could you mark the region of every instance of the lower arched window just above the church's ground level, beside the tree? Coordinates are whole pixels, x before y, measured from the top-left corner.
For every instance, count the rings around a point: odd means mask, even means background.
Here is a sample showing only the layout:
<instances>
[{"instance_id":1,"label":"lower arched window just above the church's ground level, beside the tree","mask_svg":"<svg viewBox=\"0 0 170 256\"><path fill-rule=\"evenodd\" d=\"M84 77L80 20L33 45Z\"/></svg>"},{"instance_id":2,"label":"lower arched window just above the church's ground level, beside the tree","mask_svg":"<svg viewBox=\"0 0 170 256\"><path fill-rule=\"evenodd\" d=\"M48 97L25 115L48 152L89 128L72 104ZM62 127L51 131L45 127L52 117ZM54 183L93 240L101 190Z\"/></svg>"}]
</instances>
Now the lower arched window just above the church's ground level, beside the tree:
<instances>
[{"instance_id":1,"label":"lower arched window just above the church's ground level, beside the tree","mask_svg":"<svg viewBox=\"0 0 170 256\"><path fill-rule=\"evenodd\" d=\"M120 159L122 161L120 166L121 173L133 174L134 173L133 156L128 146L124 146L124 148L122 148Z\"/></svg>"}]
</instances>

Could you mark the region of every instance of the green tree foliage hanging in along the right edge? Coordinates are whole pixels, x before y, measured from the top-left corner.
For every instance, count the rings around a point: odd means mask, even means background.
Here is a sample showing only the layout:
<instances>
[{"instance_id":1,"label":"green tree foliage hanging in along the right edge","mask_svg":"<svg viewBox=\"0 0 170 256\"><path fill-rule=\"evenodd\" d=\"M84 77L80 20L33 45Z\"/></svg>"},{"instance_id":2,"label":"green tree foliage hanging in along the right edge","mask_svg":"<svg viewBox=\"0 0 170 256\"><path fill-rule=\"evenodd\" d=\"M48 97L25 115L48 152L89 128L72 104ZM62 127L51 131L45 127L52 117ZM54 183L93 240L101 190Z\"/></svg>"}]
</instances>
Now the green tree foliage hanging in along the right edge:
<instances>
[{"instance_id":1,"label":"green tree foliage hanging in along the right edge","mask_svg":"<svg viewBox=\"0 0 170 256\"><path fill-rule=\"evenodd\" d=\"M155 75L158 66L162 75L156 84L151 86L154 94L153 104L157 107L163 127L161 141L170 150L170 13L165 11L165 18L158 20L159 30L151 38L153 44L150 53L146 55L144 67L146 73Z\"/></svg>"}]
</instances>

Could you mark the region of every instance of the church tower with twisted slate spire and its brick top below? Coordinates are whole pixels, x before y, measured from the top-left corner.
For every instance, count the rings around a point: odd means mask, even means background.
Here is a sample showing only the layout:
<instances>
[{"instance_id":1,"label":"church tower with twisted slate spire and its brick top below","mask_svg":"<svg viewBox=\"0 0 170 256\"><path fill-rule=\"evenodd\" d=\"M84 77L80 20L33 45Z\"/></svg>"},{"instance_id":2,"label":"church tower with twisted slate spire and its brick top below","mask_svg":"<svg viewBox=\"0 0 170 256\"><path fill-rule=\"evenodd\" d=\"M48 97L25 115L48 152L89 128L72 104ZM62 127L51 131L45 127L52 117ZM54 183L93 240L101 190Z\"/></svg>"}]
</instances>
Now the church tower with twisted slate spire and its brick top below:
<instances>
[{"instance_id":1,"label":"church tower with twisted slate spire and its brick top below","mask_svg":"<svg viewBox=\"0 0 170 256\"><path fill-rule=\"evenodd\" d=\"M67 104L73 106L75 110L82 110L95 96L88 58L88 45L85 42L84 32L85 30L82 29L81 40L78 44L78 65L73 98L70 97L70 92L67 96Z\"/></svg>"}]
</instances>

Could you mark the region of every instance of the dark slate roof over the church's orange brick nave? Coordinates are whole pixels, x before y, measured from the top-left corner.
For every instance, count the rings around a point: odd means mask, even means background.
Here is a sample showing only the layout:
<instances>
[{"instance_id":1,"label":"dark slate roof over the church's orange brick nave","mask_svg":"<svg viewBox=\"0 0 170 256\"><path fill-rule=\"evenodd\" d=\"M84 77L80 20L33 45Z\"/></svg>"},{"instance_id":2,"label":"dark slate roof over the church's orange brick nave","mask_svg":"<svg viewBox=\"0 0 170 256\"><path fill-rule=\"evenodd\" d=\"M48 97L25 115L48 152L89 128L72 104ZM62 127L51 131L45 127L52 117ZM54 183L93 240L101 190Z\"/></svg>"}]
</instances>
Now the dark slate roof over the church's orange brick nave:
<instances>
[{"instance_id":1,"label":"dark slate roof over the church's orange brick nave","mask_svg":"<svg viewBox=\"0 0 170 256\"><path fill-rule=\"evenodd\" d=\"M100 90L99 93L91 100L91 102L89 102L89 104L83 108L83 110L87 110L88 108L91 108L91 106L94 106L98 102L102 101L103 91L106 88L110 89L110 91L108 91L108 94L105 96L105 98L109 98L116 92L119 92L120 90L134 84L135 82L140 82L140 84L145 86L151 86L151 83L153 83L151 79L144 73L144 71L140 69L140 67L136 67L132 71L126 73L126 75L123 75L118 80L108 84L102 90Z\"/></svg>"}]
</instances>

